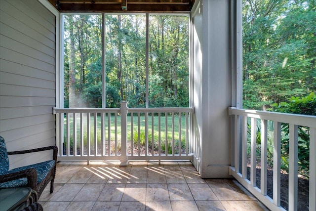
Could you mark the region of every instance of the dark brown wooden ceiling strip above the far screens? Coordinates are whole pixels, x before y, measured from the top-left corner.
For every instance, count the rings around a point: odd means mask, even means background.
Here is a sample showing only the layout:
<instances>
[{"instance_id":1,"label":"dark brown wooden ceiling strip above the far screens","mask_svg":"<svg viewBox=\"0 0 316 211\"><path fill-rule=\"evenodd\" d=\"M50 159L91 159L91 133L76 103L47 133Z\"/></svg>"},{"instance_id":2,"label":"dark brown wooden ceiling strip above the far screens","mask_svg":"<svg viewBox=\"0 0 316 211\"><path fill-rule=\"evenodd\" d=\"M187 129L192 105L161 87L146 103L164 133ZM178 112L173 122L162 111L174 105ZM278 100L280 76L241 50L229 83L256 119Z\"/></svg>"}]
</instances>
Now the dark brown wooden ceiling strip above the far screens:
<instances>
[{"instance_id":1,"label":"dark brown wooden ceiling strip above the far screens","mask_svg":"<svg viewBox=\"0 0 316 211\"><path fill-rule=\"evenodd\" d=\"M195 0L48 0L60 12L188 13Z\"/></svg>"}]
</instances>

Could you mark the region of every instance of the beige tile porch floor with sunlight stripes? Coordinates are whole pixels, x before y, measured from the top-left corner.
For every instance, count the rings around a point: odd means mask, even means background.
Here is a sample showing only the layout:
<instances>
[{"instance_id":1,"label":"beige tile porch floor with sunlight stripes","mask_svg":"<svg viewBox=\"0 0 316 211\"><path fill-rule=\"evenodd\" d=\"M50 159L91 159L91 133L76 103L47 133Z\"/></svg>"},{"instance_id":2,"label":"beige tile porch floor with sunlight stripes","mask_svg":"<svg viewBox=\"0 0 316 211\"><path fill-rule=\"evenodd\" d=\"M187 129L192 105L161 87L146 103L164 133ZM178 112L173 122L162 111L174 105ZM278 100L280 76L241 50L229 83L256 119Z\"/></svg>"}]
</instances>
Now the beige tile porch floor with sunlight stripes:
<instances>
[{"instance_id":1,"label":"beige tile porch floor with sunlight stripes","mask_svg":"<svg viewBox=\"0 0 316 211\"><path fill-rule=\"evenodd\" d=\"M234 179L202 179L190 162L58 163L45 211L266 211Z\"/></svg>"}]
</instances>

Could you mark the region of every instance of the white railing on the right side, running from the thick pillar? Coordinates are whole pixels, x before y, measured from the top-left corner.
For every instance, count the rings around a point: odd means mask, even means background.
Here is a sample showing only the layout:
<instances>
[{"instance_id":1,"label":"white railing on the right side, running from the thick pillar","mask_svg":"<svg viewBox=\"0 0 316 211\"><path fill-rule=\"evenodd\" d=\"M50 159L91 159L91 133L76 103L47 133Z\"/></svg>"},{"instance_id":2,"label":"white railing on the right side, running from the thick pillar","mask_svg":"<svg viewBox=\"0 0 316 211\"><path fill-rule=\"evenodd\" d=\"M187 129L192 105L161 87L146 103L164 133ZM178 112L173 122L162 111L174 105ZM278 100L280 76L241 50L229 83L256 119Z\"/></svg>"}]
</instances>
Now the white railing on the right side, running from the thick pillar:
<instances>
[{"instance_id":1,"label":"white railing on the right side, running from the thick pillar","mask_svg":"<svg viewBox=\"0 0 316 211\"><path fill-rule=\"evenodd\" d=\"M230 173L270 210L284 210L280 206L281 137L288 138L288 210L298 210L298 130L309 128L309 210L316 210L316 117L265 111L229 108L232 116L232 147L234 156ZM258 120L261 120L258 122ZM288 124L288 134L281 126ZM272 126L268 128L268 125ZM260 153L256 142L260 130ZM249 135L250 134L250 135ZM270 143L268 143L268 136ZM259 136L260 137L260 136ZM269 145L269 146L268 146ZM267 195L268 147L273 154L273 199ZM260 181L256 181L256 165L259 154ZM248 167L248 168L247 168ZM247 175L247 170L250 175ZM257 186L260 184L260 188Z\"/></svg>"}]
</instances>

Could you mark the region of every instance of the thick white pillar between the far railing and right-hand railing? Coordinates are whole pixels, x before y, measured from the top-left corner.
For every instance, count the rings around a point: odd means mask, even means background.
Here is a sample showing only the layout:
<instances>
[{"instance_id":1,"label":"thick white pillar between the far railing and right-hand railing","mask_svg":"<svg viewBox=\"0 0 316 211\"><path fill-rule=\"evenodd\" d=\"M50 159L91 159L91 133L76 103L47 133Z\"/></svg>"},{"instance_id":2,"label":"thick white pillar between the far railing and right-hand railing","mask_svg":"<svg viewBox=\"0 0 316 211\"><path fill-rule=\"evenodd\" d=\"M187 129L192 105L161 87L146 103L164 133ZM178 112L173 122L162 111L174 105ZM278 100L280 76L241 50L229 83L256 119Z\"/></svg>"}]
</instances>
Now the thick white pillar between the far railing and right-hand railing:
<instances>
[{"instance_id":1,"label":"thick white pillar between the far railing and right-hand railing","mask_svg":"<svg viewBox=\"0 0 316 211\"><path fill-rule=\"evenodd\" d=\"M193 22L194 165L203 178L229 177L232 104L230 0L197 0Z\"/></svg>"}]
</instances>

